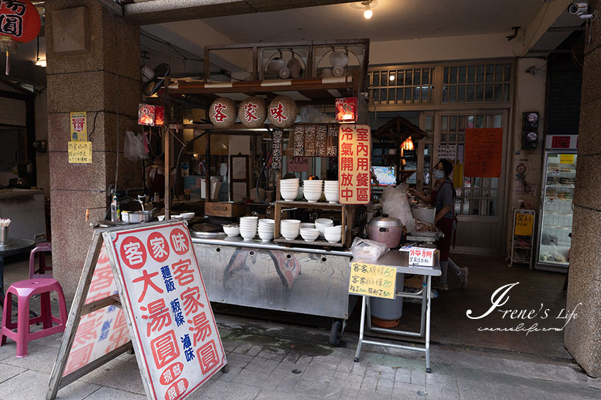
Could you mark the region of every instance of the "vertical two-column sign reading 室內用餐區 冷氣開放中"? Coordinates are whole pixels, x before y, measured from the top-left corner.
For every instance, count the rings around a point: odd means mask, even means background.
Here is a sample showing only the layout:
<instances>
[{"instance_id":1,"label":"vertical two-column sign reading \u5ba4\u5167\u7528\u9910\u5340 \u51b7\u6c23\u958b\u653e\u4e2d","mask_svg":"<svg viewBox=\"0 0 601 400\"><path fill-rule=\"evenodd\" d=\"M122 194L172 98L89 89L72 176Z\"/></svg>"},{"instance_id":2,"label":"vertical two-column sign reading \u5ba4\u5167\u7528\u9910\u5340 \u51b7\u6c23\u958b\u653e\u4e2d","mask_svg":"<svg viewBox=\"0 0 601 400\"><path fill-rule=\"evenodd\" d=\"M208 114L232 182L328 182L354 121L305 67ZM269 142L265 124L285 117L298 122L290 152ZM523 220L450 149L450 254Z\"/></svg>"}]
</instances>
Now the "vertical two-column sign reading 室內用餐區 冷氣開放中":
<instances>
[{"instance_id":1,"label":"vertical two-column sign reading \u5ba4\u5167\u7528\u9910\u5340 \u51b7\u6c23\u958b\u653e\u4e2d","mask_svg":"<svg viewBox=\"0 0 601 400\"><path fill-rule=\"evenodd\" d=\"M341 204L368 204L371 199L371 130L341 125L338 132L338 190Z\"/></svg>"}]
</instances>

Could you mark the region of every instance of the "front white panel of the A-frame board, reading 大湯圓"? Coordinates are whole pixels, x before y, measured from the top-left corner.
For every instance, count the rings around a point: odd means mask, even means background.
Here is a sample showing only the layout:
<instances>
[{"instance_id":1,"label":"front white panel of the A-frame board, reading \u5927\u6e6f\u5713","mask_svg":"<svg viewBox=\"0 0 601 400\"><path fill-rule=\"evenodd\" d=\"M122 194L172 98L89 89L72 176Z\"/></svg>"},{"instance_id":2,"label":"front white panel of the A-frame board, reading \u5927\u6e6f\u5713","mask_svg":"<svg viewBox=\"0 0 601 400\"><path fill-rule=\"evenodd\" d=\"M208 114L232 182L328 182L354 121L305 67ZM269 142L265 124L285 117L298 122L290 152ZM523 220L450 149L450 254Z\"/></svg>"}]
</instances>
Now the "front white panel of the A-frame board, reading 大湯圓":
<instances>
[{"instance_id":1,"label":"front white panel of the A-frame board, reading \u5927\u6e6f\u5713","mask_svg":"<svg viewBox=\"0 0 601 400\"><path fill-rule=\"evenodd\" d=\"M107 232L122 306L151 399L185 399L226 365L183 222Z\"/></svg>"}]
</instances>

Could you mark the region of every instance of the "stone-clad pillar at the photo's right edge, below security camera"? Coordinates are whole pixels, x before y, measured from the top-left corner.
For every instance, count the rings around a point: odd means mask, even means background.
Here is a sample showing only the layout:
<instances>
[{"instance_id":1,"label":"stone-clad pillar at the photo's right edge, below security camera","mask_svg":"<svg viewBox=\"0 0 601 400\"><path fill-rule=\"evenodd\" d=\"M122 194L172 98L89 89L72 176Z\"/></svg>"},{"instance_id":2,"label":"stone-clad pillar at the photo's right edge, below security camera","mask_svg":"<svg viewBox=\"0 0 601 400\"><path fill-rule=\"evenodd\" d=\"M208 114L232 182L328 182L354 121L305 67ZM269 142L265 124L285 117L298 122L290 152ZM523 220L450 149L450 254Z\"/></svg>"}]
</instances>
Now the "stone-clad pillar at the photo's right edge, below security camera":
<instances>
[{"instance_id":1,"label":"stone-clad pillar at the photo's right edge, below security camera","mask_svg":"<svg viewBox=\"0 0 601 400\"><path fill-rule=\"evenodd\" d=\"M601 0L588 2L601 11ZM586 30L578 166L573 200L573 230L567 310L566 348L588 375L601 376L601 21Z\"/></svg>"}]
</instances>

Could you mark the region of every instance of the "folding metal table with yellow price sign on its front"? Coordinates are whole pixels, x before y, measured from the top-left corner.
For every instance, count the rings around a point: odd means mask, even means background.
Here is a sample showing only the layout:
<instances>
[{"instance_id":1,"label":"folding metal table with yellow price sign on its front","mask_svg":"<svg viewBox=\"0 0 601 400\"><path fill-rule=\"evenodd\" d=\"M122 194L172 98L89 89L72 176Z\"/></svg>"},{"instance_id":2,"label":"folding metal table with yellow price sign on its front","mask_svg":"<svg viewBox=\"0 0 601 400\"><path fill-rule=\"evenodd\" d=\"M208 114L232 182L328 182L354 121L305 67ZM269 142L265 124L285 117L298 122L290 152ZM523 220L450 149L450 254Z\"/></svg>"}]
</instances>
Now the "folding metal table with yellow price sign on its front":
<instances>
[{"instance_id":1,"label":"folding metal table with yellow price sign on its front","mask_svg":"<svg viewBox=\"0 0 601 400\"><path fill-rule=\"evenodd\" d=\"M351 260L351 264L354 261L355 260ZM432 277L440 277L440 265L437 264L435 267L409 266L409 254L401 253L399 252L399 250L390 250L388 253L380 257L377 261L368 263L372 265L382 265L384 267L396 267L397 274L414 274L424 276L424 283L422 284L421 291L417 293L409 293L405 292L404 288L401 287L400 290L397 290L396 293L396 296L404 298L421 298L421 322L419 332L398 331L395 329L372 327L369 297L363 296L363 301L361 302L361 327L359 329L359 342L357 344L357 351L355 353L355 362L358 362L359 360L359 353L361 352L361 346L363 344L374 344L376 346L387 346L395 347L397 349L423 351L424 353L426 353L426 372L430 373L430 293ZM425 346L405 346L402 344L385 343L383 341L363 339L363 334L366 332L366 318L368 331L393 334L399 337L424 337L426 341Z\"/></svg>"}]
</instances>

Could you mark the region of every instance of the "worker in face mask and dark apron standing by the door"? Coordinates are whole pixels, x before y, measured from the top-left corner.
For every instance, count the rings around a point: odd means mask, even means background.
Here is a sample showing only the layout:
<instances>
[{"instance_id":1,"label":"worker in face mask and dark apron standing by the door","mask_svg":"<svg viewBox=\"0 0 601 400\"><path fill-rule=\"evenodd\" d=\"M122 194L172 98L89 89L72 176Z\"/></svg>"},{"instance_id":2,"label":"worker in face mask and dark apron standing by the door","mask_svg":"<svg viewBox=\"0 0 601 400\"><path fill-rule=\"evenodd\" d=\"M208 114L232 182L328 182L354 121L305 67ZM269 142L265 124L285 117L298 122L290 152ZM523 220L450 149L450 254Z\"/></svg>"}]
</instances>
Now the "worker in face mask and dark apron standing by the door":
<instances>
[{"instance_id":1,"label":"worker in face mask and dark apron standing by the door","mask_svg":"<svg viewBox=\"0 0 601 400\"><path fill-rule=\"evenodd\" d=\"M415 189L409 189L412 194L436 208L434 223L444 234L442 238L436 241L436 248L440 251L440 271L442 274L438 278L438 284L434 287L440 291L449 290L447 284L447 270L449 265L455 274L457 274L457 277L459 277L462 289L467 288L467 268L460 268L455 262L449 262L450 241L455 220L453 210L453 205L455 204L455 188L453 187L453 181L451 181L449 177L450 174L453 174L453 164L446 159L441 159L433 168L432 176L434 179L434 186L432 188L432 195L429 198L424 193L418 192Z\"/></svg>"}]
</instances>

